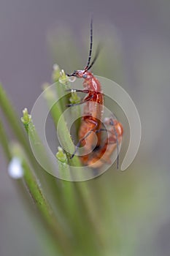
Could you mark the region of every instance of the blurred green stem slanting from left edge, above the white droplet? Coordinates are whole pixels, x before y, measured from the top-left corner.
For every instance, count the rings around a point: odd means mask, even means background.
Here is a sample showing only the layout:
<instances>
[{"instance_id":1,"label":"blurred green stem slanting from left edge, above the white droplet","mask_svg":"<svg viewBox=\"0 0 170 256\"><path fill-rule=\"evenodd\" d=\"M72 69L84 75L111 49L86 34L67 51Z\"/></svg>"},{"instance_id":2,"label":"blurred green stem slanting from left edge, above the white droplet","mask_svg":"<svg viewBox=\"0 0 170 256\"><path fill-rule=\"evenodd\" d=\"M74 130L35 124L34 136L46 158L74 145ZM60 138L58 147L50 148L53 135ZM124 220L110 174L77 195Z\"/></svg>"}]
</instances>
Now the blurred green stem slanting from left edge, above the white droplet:
<instances>
[{"instance_id":1,"label":"blurred green stem slanting from left edge, above the white droplet","mask_svg":"<svg viewBox=\"0 0 170 256\"><path fill-rule=\"evenodd\" d=\"M20 127L20 119L18 118L17 114L15 113L15 110L13 110L11 103L9 102L9 99L7 98L7 95L4 92L4 89L2 86L0 86L0 106L2 110L4 111L4 115L7 118L7 121L9 121L9 125L12 129L14 129L15 135L18 138L21 146L23 147L24 151L26 152L26 157L28 157L29 163L31 163L31 166L33 167L34 173L36 173L37 178L39 178L40 183L42 184L43 190L47 192L48 197L50 197L50 200L53 200L54 206L55 206L55 212L58 214L58 217L64 222L66 222L66 219L64 219L64 214L62 214L62 200L61 200L61 193L60 189L58 188L58 184L56 182L56 178L45 172L45 170L42 169L42 167L36 162L36 159L34 158L34 155L31 152L31 148L29 146L28 140L26 138L26 135L24 134L23 129ZM26 127L26 132L28 132L28 127ZM34 128L34 127L32 127ZM32 129L32 135L34 138L34 129ZM4 137L3 143L5 142ZM6 139L6 151L7 151L7 139ZM7 151L8 155L9 152ZM9 159L9 157L8 157ZM8 161L9 162L9 161ZM32 171L32 169L31 169ZM20 187L20 183L18 183L18 187ZM22 188L21 188L22 189Z\"/></svg>"}]
</instances>

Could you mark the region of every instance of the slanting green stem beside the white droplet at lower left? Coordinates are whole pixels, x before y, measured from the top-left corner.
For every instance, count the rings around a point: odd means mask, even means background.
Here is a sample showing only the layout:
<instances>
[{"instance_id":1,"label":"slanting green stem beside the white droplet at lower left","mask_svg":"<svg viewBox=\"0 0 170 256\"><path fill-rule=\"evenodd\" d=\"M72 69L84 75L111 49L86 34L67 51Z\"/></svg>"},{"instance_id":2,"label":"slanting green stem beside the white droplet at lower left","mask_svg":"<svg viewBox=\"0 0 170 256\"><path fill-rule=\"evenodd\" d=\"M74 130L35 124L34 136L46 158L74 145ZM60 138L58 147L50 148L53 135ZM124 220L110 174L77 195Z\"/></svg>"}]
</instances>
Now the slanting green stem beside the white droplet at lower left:
<instances>
[{"instance_id":1,"label":"slanting green stem beside the white droplet at lower left","mask_svg":"<svg viewBox=\"0 0 170 256\"><path fill-rule=\"evenodd\" d=\"M50 203L47 202L45 195L43 195L41 187L39 187L39 181L32 173L32 170L28 166L26 159L23 159L23 153L20 149L17 152L17 155L12 154L9 149L9 143L7 134L4 130L2 122L0 121L0 142L2 148L4 149L4 154L7 157L7 162L10 162L12 157L20 157L22 159L22 167L23 167L23 178L17 180L18 187L20 187L20 191L23 191L23 184L27 188L26 190L31 195L31 198L34 200L36 208L39 209L39 213L44 220L44 224L49 227L50 232L53 234L53 238L55 239L55 244L58 245L58 248L61 249L61 252L64 255L69 255L72 249L72 244L70 244L69 238L64 232L63 227L56 219L55 214L53 213L53 209L50 207ZM14 151L14 149L12 150ZM19 156L20 154L20 156ZM23 181L23 182L22 182ZM23 184L22 184L23 183ZM22 193L23 195L23 193Z\"/></svg>"}]
</instances>

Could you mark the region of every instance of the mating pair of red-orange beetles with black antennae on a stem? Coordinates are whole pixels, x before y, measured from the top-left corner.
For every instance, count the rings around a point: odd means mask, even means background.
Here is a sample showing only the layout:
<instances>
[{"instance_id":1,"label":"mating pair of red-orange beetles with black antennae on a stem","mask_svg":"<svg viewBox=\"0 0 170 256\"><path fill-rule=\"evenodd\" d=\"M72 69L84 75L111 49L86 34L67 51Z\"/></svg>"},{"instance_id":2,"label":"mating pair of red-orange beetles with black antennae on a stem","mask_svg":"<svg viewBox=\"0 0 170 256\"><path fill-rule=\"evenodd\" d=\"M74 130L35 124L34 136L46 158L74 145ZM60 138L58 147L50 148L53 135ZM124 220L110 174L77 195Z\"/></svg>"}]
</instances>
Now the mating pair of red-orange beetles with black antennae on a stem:
<instances>
[{"instance_id":1,"label":"mating pair of red-orange beetles with black antennae on a stem","mask_svg":"<svg viewBox=\"0 0 170 256\"><path fill-rule=\"evenodd\" d=\"M91 167L101 167L104 162L110 162L110 156L112 152L117 148L117 167L118 167L118 155L119 144L123 136L123 127L115 118L111 117L105 122L109 129L103 129L103 108L104 108L104 94L101 91L101 84L99 80L89 71L93 64L96 62L99 53L99 46L96 50L96 55L93 61L91 61L93 47L93 20L90 22L90 50L88 56L88 63L82 70L75 70L72 74L66 74L69 77L76 77L84 79L82 85L84 89L75 89L74 91L87 94L81 102L76 104L69 104L69 107L75 105L84 104L83 117L79 130L79 142L75 148L72 157L77 152L77 148L84 147L85 154L80 157L83 165L91 165ZM69 89L67 91L72 91ZM101 132L107 131L108 138L103 140L101 138ZM97 137L97 144L94 148L95 138ZM87 152L87 154L86 154ZM91 152L89 154L89 152ZM105 157L102 157L102 156ZM72 158L71 157L71 158Z\"/></svg>"}]
</instances>

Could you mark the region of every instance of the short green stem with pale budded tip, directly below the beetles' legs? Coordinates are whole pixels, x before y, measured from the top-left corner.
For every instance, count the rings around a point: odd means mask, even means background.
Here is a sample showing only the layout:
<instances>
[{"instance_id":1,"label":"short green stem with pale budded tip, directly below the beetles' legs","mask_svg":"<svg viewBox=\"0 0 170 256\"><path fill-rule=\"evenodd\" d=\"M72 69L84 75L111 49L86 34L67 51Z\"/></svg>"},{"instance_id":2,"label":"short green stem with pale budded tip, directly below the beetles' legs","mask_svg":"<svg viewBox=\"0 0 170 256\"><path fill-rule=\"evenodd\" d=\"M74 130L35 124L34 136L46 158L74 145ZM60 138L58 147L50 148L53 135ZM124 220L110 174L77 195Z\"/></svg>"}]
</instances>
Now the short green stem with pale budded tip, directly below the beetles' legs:
<instances>
[{"instance_id":1,"label":"short green stem with pale budded tip, directly below the beetles' legs","mask_svg":"<svg viewBox=\"0 0 170 256\"><path fill-rule=\"evenodd\" d=\"M66 178L68 178L69 165L66 165L65 162L61 162L58 160L58 168L59 173L61 173L62 177L64 176L63 171L66 170ZM78 252L79 256L88 255L88 248L90 248L91 252L93 251L95 253L96 249L94 249L94 247L96 246L94 246L94 244L98 244L98 238L96 243L96 236L94 236L93 238L91 238L90 236L86 238L84 237L84 233L89 233L89 230L91 233L96 233L96 231L94 230L94 225L91 221L92 217L90 216L91 210L93 209L90 209L89 212L89 208L87 206L88 202L85 201L84 197L80 194L80 192L82 193L82 191L78 191L76 189L77 183L63 180L60 181L60 183L66 216L68 216L69 225L72 227L72 232L77 239L76 251ZM90 198L88 199L90 200ZM85 216L83 215L84 213ZM83 225L83 223L85 223L85 225Z\"/></svg>"}]
</instances>

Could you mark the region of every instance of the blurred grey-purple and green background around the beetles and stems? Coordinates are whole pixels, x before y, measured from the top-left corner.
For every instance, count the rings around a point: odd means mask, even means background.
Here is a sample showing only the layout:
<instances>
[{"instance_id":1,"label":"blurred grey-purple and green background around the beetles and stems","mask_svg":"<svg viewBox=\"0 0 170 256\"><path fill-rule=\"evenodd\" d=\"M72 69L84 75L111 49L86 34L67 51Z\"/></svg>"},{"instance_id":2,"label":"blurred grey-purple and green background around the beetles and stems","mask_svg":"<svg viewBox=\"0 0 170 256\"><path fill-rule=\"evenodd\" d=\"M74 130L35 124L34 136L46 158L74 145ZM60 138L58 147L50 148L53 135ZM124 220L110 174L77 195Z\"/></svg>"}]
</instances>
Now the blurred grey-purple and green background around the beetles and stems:
<instances>
[{"instance_id":1,"label":"blurred grey-purple and green background around the beetles and stems","mask_svg":"<svg viewBox=\"0 0 170 256\"><path fill-rule=\"evenodd\" d=\"M0 80L20 116L23 108L31 110L53 63L66 72L85 66L91 13L94 49L103 45L93 72L123 86L142 121L141 146L128 170L120 173L114 166L88 181L98 192L107 255L114 241L119 256L168 256L170 2L1 0ZM53 141L53 133L48 139ZM7 175L1 148L0 164L0 255L50 254L45 230Z\"/></svg>"}]
</instances>

